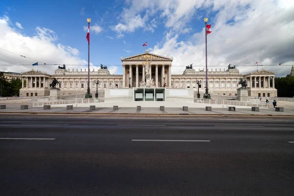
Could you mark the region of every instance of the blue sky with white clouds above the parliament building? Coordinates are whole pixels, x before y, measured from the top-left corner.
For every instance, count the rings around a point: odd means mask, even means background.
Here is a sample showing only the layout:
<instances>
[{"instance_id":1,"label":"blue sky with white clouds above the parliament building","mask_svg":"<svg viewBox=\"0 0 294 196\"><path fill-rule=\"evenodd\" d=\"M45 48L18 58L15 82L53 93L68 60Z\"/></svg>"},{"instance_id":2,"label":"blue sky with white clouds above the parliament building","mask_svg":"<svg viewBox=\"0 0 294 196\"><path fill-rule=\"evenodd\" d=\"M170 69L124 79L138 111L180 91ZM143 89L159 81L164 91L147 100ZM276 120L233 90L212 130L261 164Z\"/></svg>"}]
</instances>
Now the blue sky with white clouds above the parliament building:
<instances>
[{"instance_id":1,"label":"blue sky with white clouds above the parliament building","mask_svg":"<svg viewBox=\"0 0 294 196\"><path fill-rule=\"evenodd\" d=\"M193 63L196 69L205 65L203 18L208 17L208 24L212 25L208 35L211 68L223 69L231 63L245 72L256 69L248 66L256 61L264 65L292 65L294 35L287 31L294 30L293 11L294 3L288 0L2 0L0 25L4 30L0 32L0 48L47 64L78 64L81 66L69 68L84 68L82 65L88 61L84 28L87 18L91 18L93 65L101 63L112 68L111 73L122 74L120 57L148 48L150 52L173 57L172 73L182 73L186 65ZM147 48L142 47L146 41ZM0 55L1 64L34 63L3 50ZM41 69L52 73L55 67ZM291 70L265 68L279 70L280 74Z\"/></svg>"}]
</instances>

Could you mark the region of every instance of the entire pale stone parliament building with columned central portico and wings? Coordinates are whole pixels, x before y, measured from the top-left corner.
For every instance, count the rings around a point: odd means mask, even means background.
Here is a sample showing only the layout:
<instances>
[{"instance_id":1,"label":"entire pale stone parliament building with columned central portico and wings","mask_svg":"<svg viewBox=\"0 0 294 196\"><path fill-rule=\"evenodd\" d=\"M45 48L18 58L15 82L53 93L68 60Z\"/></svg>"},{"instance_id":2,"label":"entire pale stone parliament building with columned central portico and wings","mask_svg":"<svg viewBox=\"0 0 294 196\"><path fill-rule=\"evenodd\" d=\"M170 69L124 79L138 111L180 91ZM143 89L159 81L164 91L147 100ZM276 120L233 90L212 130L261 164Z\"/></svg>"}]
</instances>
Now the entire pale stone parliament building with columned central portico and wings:
<instances>
[{"instance_id":1,"label":"entire pale stone parliament building with columned central portico and wings","mask_svg":"<svg viewBox=\"0 0 294 196\"><path fill-rule=\"evenodd\" d=\"M160 56L146 51L145 53L121 58L123 74L110 74L107 69L90 70L90 91L96 92L94 81L99 80L98 90L115 88L139 88L140 81L145 78L143 63L146 56L150 60L150 80L155 81L155 87L166 88L192 88L197 90L197 80L201 80L199 91L205 91L205 70L186 69L183 74L172 74L172 58ZM261 70L240 74L237 69L208 70L209 93L221 95L237 95L239 78L244 78L248 84L248 96L276 97L274 88L275 73ZM60 84L62 95L86 93L88 83L88 70L55 70L49 75L43 72L28 71L21 73L22 80L26 79L26 86L22 87L21 96L49 96L49 84L55 77ZM36 94L37 93L37 94Z\"/></svg>"}]
</instances>

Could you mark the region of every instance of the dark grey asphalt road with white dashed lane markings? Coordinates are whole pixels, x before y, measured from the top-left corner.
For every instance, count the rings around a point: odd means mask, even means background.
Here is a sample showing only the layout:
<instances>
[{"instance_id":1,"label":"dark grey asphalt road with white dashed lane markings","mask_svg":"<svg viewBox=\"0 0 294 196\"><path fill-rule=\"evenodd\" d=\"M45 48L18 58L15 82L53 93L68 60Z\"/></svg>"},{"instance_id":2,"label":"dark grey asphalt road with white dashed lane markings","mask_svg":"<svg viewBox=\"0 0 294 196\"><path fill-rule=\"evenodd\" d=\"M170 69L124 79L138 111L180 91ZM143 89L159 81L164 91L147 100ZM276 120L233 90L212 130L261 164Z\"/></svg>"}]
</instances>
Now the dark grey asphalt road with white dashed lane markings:
<instances>
[{"instance_id":1,"label":"dark grey asphalt road with white dashed lane markings","mask_svg":"<svg viewBox=\"0 0 294 196\"><path fill-rule=\"evenodd\" d=\"M0 173L1 196L293 196L294 121L0 117Z\"/></svg>"}]
</instances>

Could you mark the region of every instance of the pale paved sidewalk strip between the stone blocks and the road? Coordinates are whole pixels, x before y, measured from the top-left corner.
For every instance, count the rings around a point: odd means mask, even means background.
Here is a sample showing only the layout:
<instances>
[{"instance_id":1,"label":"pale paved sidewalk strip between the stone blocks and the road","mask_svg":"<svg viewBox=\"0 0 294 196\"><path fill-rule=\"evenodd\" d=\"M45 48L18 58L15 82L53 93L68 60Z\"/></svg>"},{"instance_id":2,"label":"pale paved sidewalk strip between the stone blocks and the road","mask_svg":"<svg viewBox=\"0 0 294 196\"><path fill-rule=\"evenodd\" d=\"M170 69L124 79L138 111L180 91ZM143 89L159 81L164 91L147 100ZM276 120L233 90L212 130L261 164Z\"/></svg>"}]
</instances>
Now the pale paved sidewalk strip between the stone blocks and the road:
<instances>
[{"instance_id":1,"label":"pale paved sidewalk strip between the stone blocks and the road","mask_svg":"<svg viewBox=\"0 0 294 196\"><path fill-rule=\"evenodd\" d=\"M165 108L164 111L159 108L145 108L136 110L134 107L122 107L119 110L113 110L110 107L96 107L96 110L90 110L89 107L73 107L73 110L67 110L65 107L51 107L49 110L44 110L43 107L31 107L21 110L20 107L7 107L1 109L0 114L79 114L79 115L242 115L242 116L294 116L294 110L285 109L284 112L276 112L273 108L262 109L259 112L251 111L251 108L236 108L236 111L228 111L226 108L212 108L212 111L205 111L205 108L190 108L188 111L183 111L182 108Z\"/></svg>"}]
</instances>

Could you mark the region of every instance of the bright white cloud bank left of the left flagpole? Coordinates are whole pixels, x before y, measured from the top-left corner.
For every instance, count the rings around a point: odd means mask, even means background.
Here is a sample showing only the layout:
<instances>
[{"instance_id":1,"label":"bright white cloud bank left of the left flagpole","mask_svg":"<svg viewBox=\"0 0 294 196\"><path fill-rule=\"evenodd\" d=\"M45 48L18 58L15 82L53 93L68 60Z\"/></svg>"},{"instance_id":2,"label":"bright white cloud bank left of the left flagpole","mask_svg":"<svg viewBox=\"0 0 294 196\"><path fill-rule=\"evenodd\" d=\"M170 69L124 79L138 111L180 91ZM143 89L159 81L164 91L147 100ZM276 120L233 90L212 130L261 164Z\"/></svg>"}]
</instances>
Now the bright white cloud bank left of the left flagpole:
<instances>
[{"instance_id":1,"label":"bright white cloud bank left of the left flagpole","mask_svg":"<svg viewBox=\"0 0 294 196\"><path fill-rule=\"evenodd\" d=\"M88 62L79 58L78 49L62 44L55 44L57 34L44 27L36 27L35 35L32 37L25 36L11 27L8 17L0 18L0 48L24 55L28 58L44 62L47 65L39 64L39 69L48 73L53 73L57 68L49 64L66 64L66 65L87 65ZM0 64L19 65L19 66L1 66L1 70L9 72L25 72L35 67L23 66L35 63L34 60L0 50ZM83 66L67 66L67 69L77 69Z\"/></svg>"}]
</instances>

